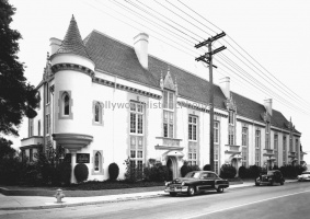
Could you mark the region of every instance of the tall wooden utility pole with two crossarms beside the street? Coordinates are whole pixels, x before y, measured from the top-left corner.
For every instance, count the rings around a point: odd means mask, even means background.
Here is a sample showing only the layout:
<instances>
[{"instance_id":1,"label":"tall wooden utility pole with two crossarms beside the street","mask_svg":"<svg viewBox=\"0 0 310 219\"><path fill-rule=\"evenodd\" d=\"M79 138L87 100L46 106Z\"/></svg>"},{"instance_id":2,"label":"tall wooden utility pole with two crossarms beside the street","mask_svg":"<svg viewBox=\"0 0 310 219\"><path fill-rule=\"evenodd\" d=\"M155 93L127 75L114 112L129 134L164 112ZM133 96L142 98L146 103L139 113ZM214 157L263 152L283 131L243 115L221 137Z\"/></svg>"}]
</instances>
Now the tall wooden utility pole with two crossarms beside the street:
<instances>
[{"instance_id":1,"label":"tall wooden utility pole with two crossarms beside the street","mask_svg":"<svg viewBox=\"0 0 310 219\"><path fill-rule=\"evenodd\" d=\"M213 42L223 37L226 34L225 32L209 37L207 41L202 42L195 45L195 48L199 48L202 46L208 45L208 53L205 55L196 58L196 61L204 61L209 65L209 82L210 82L210 90L209 90L209 105L210 105L210 171L215 171L215 140L214 140L214 76L213 76L213 68L217 68L213 65L213 55L226 49L225 46L221 46L215 50L213 50L211 45Z\"/></svg>"}]
</instances>

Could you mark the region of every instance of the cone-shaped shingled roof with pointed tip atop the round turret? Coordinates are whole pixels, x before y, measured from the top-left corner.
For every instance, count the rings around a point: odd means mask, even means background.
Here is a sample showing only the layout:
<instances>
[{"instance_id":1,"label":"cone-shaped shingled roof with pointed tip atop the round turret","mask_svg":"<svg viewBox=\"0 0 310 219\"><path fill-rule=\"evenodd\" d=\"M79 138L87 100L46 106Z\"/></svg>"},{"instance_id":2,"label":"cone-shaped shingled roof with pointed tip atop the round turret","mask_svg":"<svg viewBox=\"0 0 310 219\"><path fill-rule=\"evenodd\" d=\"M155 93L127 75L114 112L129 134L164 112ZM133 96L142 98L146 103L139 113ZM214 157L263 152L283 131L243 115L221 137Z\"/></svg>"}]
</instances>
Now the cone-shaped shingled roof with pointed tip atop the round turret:
<instances>
[{"instance_id":1,"label":"cone-shaped shingled roof with pointed tip atop the round turret","mask_svg":"<svg viewBox=\"0 0 310 219\"><path fill-rule=\"evenodd\" d=\"M91 59L87 53L78 24L73 15L70 21L70 25L66 33L65 39L62 41L62 44L56 54L76 54Z\"/></svg>"}]
</instances>

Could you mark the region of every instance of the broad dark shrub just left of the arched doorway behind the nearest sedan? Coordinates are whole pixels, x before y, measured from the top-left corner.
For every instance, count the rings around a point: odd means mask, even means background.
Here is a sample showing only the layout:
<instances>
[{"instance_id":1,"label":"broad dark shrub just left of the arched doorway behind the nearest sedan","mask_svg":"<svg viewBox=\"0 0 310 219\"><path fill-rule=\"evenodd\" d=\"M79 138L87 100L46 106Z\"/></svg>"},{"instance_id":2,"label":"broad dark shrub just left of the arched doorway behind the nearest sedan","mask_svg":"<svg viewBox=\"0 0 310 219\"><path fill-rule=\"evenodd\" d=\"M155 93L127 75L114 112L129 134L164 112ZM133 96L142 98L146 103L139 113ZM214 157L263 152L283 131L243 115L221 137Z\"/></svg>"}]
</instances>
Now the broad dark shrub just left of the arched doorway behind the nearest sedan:
<instances>
[{"instance_id":1,"label":"broad dark shrub just left of the arched doorway behind the nearest sedan","mask_svg":"<svg viewBox=\"0 0 310 219\"><path fill-rule=\"evenodd\" d=\"M143 178L150 182L169 181L169 169L161 163L156 163L153 166L145 166Z\"/></svg>"}]
</instances>

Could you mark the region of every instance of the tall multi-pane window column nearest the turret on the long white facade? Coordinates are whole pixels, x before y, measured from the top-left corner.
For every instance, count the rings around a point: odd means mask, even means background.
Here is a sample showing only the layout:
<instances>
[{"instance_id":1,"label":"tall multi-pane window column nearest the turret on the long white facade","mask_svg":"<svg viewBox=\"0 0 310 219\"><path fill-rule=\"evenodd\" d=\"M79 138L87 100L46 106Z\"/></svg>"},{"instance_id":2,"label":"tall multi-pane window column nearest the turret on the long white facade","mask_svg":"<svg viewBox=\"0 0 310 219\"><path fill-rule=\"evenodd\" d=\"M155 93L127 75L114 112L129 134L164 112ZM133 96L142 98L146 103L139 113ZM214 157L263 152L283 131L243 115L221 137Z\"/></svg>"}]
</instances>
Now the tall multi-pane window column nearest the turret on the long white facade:
<instances>
[{"instance_id":1,"label":"tall multi-pane window column nearest the turret on the long white facade","mask_svg":"<svg viewBox=\"0 0 310 219\"><path fill-rule=\"evenodd\" d=\"M130 102L130 164L142 170L143 147L143 104Z\"/></svg>"}]
</instances>

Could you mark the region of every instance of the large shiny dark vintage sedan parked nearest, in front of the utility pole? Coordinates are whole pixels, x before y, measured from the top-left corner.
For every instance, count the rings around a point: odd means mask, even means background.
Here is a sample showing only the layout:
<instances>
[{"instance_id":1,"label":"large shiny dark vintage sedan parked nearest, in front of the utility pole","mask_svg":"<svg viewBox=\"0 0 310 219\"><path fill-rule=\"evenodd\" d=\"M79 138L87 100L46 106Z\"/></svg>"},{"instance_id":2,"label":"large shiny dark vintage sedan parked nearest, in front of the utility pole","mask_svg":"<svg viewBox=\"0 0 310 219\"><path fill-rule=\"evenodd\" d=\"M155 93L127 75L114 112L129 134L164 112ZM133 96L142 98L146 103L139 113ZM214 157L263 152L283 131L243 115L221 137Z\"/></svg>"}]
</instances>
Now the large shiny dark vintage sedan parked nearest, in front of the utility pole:
<instances>
[{"instance_id":1,"label":"large shiny dark vintage sedan parked nearest, in front of the utility pole","mask_svg":"<svg viewBox=\"0 0 310 219\"><path fill-rule=\"evenodd\" d=\"M196 193L216 189L218 193L222 193L223 188L229 187L227 180L220 178L216 173L210 171L193 171L185 175L185 177L179 177L171 182L165 183L165 193L171 196L177 194L187 194L193 196Z\"/></svg>"}]
</instances>

